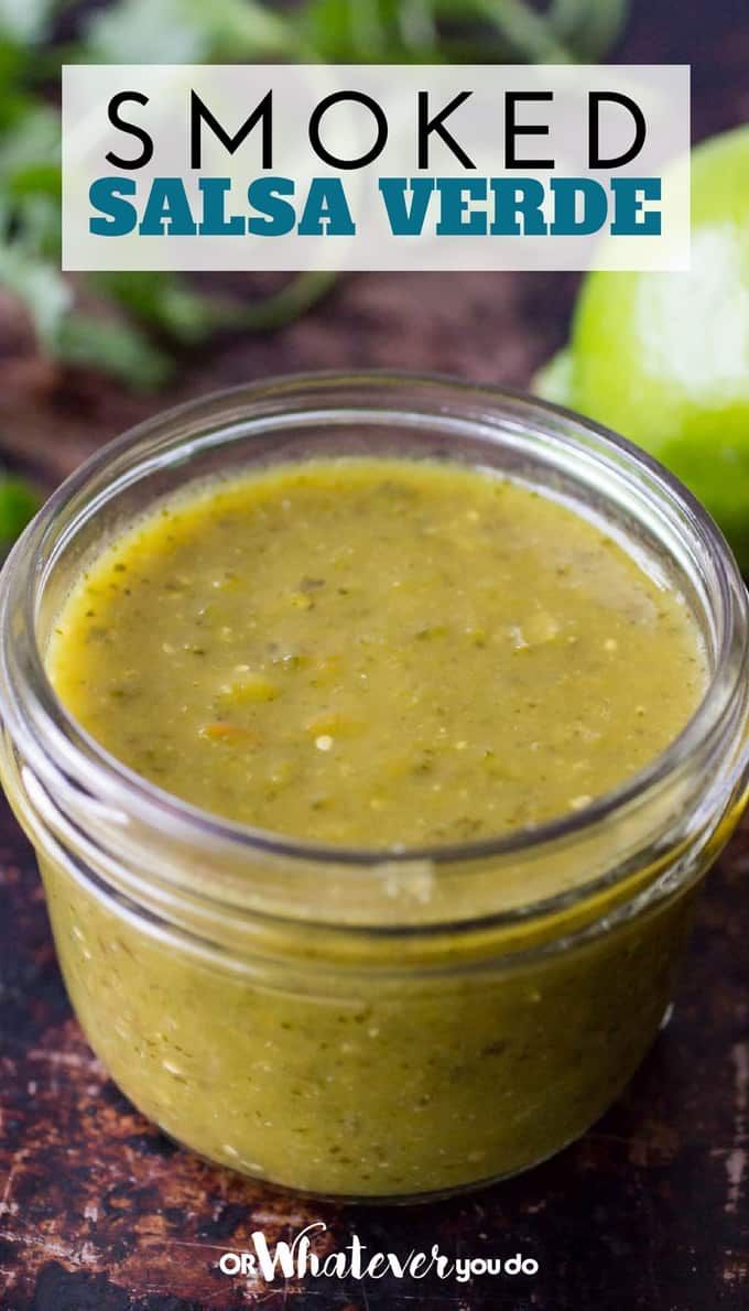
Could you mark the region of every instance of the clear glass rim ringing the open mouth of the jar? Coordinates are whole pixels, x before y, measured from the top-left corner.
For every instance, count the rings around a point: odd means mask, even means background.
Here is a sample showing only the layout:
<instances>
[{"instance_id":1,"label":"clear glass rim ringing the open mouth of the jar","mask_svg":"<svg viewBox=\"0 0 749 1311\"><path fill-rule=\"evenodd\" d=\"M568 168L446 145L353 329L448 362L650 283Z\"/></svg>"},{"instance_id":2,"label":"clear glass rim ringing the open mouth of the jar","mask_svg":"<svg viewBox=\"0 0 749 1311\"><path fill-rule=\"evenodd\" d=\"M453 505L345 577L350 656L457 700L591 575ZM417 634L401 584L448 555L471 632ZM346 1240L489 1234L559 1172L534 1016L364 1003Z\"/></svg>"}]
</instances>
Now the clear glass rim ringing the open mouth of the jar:
<instances>
[{"instance_id":1,"label":"clear glass rim ringing the open mouth of the jar","mask_svg":"<svg viewBox=\"0 0 749 1311\"><path fill-rule=\"evenodd\" d=\"M647 766L626 779L617 788L594 797L585 808L547 821L535 827L510 830L495 838L481 838L458 843L424 847L369 847L327 844L310 839L296 839L282 832L223 818L174 794L135 773L111 756L68 713L56 696L47 676L43 656L35 638L35 612L50 569L46 555L49 538L55 523L70 509L76 497L85 497L87 488L117 461L138 456L142 468L150 450L171 434L172 444L180 440L180 426L203 416L220 417L226 409L224 431L236 405L247 414L253 404L308 397L320 401L324 391L328 402L346 388L369 388L378 399L387 399L397 388L416 393L435 393L434 416L441 405L463 402L484 406L484 412L498 414L512 408L519 413L527 429L538 430L546 420L561 420L577 434L585 434L628 467L631 473L647 475L649 485L662 503L670 503L689 523L704 560L712 570L712 587L706 589L720 616L719 642L715 669L704 695L690 720L669 746ZM374 405L373 405L374 408ZM303 413L303 406L295 413ZM281 412L281 413L289 413ZM401 413L403 409L401 409ZM429 410L426 412L429 413ZM189 435L188 435L189 440ZM70 524L70 536L76 526L88 522L106 497L94 497L87 503L87 513ZM10 615L14 621L10 623ZM21 619L18 620L18 616ZM720 732L731 712L737 688L746 679L749 666L749 624L746 589L739 566L719 528L697 498L657 460L634 443L617 435L571 409L540 401L523 392L505 387L471 383L439 374L411 374L394 370L315 371L286 374L261 383L240 384L215 391L197 400L160 412L155 417L129 429L87 459L49 498L45 506L18 539L0 576L0 713L10 730L10 738L28 738L33 722L37 742L50 753L67 777L85 777L92 785L106 781L108 800L119 804L125 813L147 812L164 831L177 831L198 846L226 843L235 851L282 856L302 861L371 868L399 863L428 861L430 865L455 865L487 860L521 852L540 851L559 840L581 836L614 814L645 801L666 781L676 777ZM21 674L21 678L18 678ZM727 676L728 675L728 676ZM582 882L576 891L590 890ZM547 903L548 905L548 903ZM530 907L526 907L526 912Z\"/></svg>"}]
</instances>

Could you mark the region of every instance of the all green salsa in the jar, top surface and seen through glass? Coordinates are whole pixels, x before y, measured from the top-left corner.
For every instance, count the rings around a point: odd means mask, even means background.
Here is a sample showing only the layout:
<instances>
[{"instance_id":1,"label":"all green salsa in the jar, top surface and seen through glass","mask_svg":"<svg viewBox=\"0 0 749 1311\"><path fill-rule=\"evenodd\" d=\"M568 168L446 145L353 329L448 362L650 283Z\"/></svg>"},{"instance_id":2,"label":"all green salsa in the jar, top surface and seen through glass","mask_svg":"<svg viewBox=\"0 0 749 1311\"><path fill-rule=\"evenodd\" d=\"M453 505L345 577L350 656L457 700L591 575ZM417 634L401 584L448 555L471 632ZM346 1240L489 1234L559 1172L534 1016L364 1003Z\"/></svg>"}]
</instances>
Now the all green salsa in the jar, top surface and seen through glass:
<instances>
[{"instance_id":1,"label":"all green salsa in the jar, top surface and seen through glass","mask_svg":"<svg viewBox=\"0 0 749 1311\"><path fill-rule=\"evenodd\" d=\"M363 458L155 506L81 572L47 667L88 733L168 793L386 856L584 810L674 739L707 678L685 602L575 507ZM614 836L603 855L614 868ZM345 872L325 859L311 881L334 924ZM592 874L592 855L560 861L550 893ZM408 935L281 949L260 924L210 954L42 869L76 1011L134 1103L214 1160L359 1198L474 1185L582 1133L657 1032L691 903L674 891L581 940L575 910L521 919L512 950L501 927L470 947L441 931L422 968ZM508 903L534 897L523 871ZM199 873L210 894L210 859ZM481 877L495 895L488 857ZM470 919L477 884L441 886ZM418 927L429 881L413 905Z\"/></svg>"}]
</instances>

